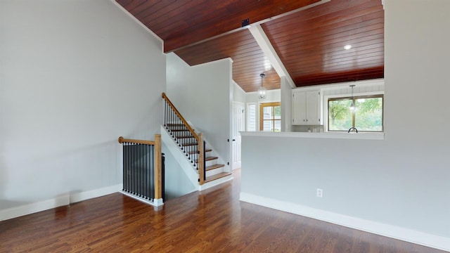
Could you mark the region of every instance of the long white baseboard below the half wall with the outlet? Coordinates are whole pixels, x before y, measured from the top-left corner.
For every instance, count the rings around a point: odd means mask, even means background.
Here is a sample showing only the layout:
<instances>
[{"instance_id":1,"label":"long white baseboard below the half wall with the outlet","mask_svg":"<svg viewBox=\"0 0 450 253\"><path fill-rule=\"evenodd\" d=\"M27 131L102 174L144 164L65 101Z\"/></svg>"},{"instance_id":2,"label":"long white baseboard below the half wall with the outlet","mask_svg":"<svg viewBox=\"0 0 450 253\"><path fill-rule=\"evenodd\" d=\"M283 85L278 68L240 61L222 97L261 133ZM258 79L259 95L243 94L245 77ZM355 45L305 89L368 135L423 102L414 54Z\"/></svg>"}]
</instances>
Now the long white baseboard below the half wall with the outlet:
<instances>
[{"instance_id":1,"label":"long white baseboard below the half wall with the outlet","mask_svg":"<svg viewBox=\"0 0 450 253\"><path fill-rule=\"evenodd\" d=\"M240 200L256 205L262 205L264 207L269 207L272 209L281 210L284 212L307 216L309 218L318 219L321 221L335 223L340 226L346 226L348 228L354 228L360 231L366 231L368 233L383 235L389 238L404 240L406 242L413 242L418 245L424 245L426 247L432 247L450 252L450 238L439 235L432 235L430 233L414 231L409 228L401 228L398 226L392 226L376 221L359 219L352 216L335 214L333 212L327 212L321 209L305 207L302 205L297 205L281 200L274 200L250 193L241 192Z\"/></svg>"}]
</instances>

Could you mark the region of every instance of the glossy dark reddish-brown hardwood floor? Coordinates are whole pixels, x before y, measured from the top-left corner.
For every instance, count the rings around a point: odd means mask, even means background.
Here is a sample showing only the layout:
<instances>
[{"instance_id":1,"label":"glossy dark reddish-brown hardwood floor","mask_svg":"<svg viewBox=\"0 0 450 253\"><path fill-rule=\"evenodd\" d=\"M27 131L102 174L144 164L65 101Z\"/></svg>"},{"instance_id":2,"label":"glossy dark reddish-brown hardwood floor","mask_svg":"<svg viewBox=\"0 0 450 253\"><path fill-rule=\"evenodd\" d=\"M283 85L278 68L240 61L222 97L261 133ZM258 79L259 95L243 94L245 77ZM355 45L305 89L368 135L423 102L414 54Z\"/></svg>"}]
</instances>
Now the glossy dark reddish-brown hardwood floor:
<instances>
[{"instance_id":1,"label":"glossy dark reddish-brown hardwood floor","mask_svg":"<svg viewBox=\"0 0 450 253\"><path fill-rule=\"evenodd\" d=\"M120 193L0 222L0 252L443 252L238 200L235 180L150 207Z\"/></svg>"}]
</instances>

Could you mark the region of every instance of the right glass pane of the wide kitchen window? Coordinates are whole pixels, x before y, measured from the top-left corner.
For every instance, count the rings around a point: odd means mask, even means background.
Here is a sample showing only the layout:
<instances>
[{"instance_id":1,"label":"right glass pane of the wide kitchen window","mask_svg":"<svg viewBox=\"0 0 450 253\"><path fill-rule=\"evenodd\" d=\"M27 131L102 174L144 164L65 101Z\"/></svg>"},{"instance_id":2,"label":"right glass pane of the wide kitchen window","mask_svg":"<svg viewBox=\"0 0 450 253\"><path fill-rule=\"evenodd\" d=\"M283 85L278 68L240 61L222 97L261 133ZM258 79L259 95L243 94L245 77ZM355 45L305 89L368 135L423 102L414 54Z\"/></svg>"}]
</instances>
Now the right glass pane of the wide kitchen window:
<instances>
[{"instance_id":1,"label":"right glass pane of the wide kitchen window","mask_svg":"<svg viewBox=\"0 0 450 253\"><path fill-rule=\"evenodd\" d=\"M358 98L355 105L358 131L383 131L383 98Z\"/></svg>"}]
</instances>

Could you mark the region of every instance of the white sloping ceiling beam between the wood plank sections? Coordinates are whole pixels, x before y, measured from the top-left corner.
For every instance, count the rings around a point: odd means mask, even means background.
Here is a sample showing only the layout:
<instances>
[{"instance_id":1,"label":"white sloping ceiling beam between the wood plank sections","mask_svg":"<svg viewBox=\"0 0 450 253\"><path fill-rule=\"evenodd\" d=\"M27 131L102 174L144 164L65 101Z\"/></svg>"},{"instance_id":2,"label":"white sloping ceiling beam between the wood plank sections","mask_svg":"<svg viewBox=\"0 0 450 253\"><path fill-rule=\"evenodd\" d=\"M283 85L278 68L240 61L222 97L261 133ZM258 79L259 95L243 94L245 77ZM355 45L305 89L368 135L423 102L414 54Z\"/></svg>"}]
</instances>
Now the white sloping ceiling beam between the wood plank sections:
<instances>
[{"instance_id":1,"label":"white sloping ceiling beam between the wood plank sections","mask_svg":"<svg viewBox=\"0 0 450 253\"><path fill-rule=\"evenodd\" d=\"M270 43L269 38L267 37L264 30L262 30L261 25L251 25L248 30L253 35L253 38L255 38L255 40L257 41L257 44L264 52L264 55L269 59L269 62L274 67L278 76L285 77L288 80L288 84L292 88L296 88L293 79L290 77L288 70L286 70L283 63L281 62L280 57L278 57L274 46L272 46L272 44Z\"/></svg>"}]
</instances>

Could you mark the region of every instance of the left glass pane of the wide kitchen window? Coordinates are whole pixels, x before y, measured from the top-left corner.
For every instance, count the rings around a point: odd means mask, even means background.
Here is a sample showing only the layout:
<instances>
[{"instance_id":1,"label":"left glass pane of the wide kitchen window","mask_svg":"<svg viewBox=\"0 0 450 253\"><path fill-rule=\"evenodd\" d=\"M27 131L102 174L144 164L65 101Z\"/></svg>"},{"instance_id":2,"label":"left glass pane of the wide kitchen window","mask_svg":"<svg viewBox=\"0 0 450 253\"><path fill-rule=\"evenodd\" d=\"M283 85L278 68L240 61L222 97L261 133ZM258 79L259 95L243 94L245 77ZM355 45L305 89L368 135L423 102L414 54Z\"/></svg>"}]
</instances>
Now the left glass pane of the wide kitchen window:
<instances>
[{"instance_id":1,"label":"left glass pane of the wide kitchen window","mask_svg":"<svg viewBox=\"0 0 450 253\"><path fill-rule=\"evenodd\" d=\"M328 130L347 131L352 127L353 115L349 109L352 100L328 100Z\"/></svg>"}]
</instances>

